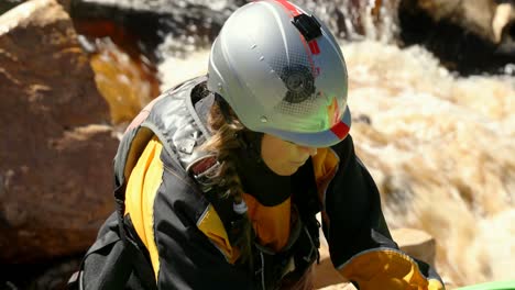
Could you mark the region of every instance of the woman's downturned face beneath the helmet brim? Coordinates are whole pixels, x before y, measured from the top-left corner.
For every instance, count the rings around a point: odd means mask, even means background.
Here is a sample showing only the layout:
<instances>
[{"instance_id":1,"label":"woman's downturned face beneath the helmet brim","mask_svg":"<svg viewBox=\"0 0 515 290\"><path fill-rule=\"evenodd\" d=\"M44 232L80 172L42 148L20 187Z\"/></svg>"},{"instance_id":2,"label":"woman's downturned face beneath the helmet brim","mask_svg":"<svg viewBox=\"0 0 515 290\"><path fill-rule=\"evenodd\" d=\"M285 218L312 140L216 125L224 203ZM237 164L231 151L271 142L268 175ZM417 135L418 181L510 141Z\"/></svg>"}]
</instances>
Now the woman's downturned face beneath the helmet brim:
<instances>
[{"instance_id":1,"label":"woman's downturned face beneath the helmet brim","mask_svg":"<svg viewBox=\"0 0 515 290\"><path fill-rule=\"evenodd\" d=\"M266 166L280 176L291 176L315 156L317 148L300 146L273 135L264 134L261 141L261 157Z\"/></svg>"}]
</instances>

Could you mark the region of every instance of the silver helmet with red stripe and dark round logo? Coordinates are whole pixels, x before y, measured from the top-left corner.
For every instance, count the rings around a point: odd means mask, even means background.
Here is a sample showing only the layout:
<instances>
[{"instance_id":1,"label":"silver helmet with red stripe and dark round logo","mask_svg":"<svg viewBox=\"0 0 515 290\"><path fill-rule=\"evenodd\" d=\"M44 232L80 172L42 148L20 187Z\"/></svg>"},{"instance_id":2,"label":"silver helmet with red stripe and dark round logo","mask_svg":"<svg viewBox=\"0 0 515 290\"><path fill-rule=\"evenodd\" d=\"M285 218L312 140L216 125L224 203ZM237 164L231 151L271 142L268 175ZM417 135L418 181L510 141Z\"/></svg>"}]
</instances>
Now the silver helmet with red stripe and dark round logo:
<instances>
[{"instance_id":1,"label":"silver helmet with red stripe and dark round logo","mask_svg":"<svg viewBox=\"0 0 515 290\"><path fill-rule=\"evenodd\" d=\"M212 44L208 88L251 131L310 147L349 133L347 68L329 30L285 0L248 3Z\"/></svg>"}]
</instances>

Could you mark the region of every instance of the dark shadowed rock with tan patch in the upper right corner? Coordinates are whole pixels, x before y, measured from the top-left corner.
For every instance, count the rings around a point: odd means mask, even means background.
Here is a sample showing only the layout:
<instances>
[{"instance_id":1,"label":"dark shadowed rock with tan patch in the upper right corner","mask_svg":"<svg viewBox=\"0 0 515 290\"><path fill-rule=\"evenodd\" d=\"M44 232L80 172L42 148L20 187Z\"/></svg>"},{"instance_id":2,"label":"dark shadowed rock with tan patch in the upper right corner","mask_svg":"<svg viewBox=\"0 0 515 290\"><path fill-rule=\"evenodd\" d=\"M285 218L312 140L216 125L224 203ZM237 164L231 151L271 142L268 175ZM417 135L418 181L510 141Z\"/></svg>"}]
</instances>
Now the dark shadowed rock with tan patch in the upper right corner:
<instances>
[{"instance_id":1,"label":"dark shadowed rock with tan patch in the upper right corner","mask_svg":"<svg viewBox=\"0 0 515 290\"><path fill-rule=\"evenodd\" d=\"M421 44L462 75L505 72L515 62L512 0L402 0L401 40Z\"/></svg>"}]
</instances>

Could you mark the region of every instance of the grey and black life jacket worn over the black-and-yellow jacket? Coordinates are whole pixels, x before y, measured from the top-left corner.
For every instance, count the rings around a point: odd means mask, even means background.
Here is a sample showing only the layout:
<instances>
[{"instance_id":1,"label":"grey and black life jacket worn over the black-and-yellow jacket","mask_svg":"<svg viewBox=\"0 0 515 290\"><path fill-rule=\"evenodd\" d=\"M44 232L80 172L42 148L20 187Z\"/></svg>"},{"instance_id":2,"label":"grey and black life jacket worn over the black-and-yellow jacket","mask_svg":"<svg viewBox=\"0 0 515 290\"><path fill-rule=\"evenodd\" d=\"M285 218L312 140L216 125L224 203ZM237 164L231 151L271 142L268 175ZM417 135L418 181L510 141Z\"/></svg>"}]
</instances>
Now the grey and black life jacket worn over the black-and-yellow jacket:
<instances>
[{"instance_id":1,"label":"grey and black life jacket worn over the black-and-yellow jacket","mask_svg":"<svg viewBox=\"0 0 515 290\"><path fill-rule=\"evenodd\" d=\"M206 81L206 77L189 80L164 92L149 103L128 126L114 157L116 214L102 225L98 238L88 249L79 271L68 286L70 289L155 289L155 276L145 246L138 238L130 219L124 216L125 189L132 169L146 144L157 137L174 170L188 172L217 210L228 234L238 225L229 201L217 198L212 192L209 172L218 163L212 156L196 150L210 133L195 111L194 88ZM294 176L298 188L293 202L302 219L293 231L288 245L274 253L255 244L255 278L263 288L276 287L280 279L298 279L319 257L320 211L313 166L307 163ZM309 182L306 182L308 180ZM95 270L94 270L95 269Z\"/></svg>"}]
</instances>

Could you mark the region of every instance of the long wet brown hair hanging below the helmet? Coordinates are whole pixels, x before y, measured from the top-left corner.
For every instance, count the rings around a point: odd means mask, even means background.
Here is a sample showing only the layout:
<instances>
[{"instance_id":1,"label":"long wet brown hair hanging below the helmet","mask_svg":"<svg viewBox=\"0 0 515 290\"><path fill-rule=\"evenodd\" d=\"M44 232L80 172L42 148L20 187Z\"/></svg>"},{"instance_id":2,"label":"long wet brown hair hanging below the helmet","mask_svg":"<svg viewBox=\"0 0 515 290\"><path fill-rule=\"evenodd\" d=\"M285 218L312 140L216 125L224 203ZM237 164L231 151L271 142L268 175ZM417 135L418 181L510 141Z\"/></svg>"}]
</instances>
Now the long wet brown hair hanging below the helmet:
<instances>
[{"instance_id":1,"label":"long wet brown hair hanging below the helmet","mask_svg":"<svg viewBox=\"0 0 515 290\"><path fill-rule=\"evenodd\" d=\"M208 92L206 89L204 93L212 92ZM199 149L213 154L220 164L218 171L212 176L212 181L218 185L219 198L232 200L235 204L242 204L244 202L242 197L243 186L237 170L235 158L238 158L238 155L235 153L244 148L245 144L242 136L249 130L239 121L230 108L221 109L224 105L220 104L221 101L219 97L215 98L207 121L212 136ZM229 110L227 111L227 109ZM227 115L228 113L230 116ZM237 228L231 230L238 234L231 243L240 252L240 261L248 264L252 269L252 246L254 241L252 223L246 211L237 213L237 215L239 217L235 223Z\"/></svg>"}]
</instances>

